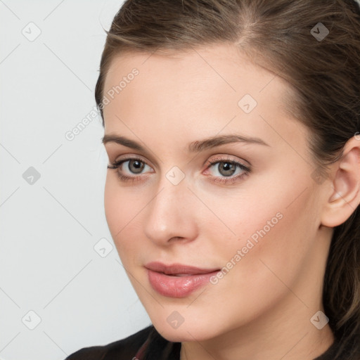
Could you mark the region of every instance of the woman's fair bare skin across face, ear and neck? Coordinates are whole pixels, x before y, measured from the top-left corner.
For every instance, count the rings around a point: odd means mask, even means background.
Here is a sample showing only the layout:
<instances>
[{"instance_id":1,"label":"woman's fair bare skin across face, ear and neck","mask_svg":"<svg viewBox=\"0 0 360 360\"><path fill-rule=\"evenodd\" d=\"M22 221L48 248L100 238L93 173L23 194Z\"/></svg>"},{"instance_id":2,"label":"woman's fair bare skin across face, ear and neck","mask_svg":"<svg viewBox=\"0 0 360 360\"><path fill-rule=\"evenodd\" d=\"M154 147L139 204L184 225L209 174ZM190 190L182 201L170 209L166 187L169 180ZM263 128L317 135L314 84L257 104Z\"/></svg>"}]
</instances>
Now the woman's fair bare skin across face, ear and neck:
<instances>
[{"instance_id":1,"label":"woman's fair bare skin across face, ear and neck","mask_svg":"<svg viewBox=\"0 0 360 360\"><path fill-rule=\"evenodd\" d=\"M146 166L141 175L129 162L108 169L105 215L153 325L167 340L182 342L181 360L310 360L323 354L333 333L310 319L324 312L332 228L360 202L359 141L349 141L342 161L320 184L311 176L309 130L283 107L290 85L235 47L123 54L110 66L104 94L133 68L139 75L104 108L105 135L126 136L146 152L114 142L105 148L109 164L135 156ZM257 101L248 114L238 105L245 94ZM268 146L228 143L188 153L193 141L234 133ZM250 164L251 172L233 184L214 182L227 179L221 163L207 165L218 158ZM185 176L177 185L166 177L174 166ZM117 172L140 180L121 181ZM220 269L277 213L283 217L216 285L179 299L151 288L146 263ZM167 322L173 311L184 318L178 328Z\"/></svg>"}]
</instances>

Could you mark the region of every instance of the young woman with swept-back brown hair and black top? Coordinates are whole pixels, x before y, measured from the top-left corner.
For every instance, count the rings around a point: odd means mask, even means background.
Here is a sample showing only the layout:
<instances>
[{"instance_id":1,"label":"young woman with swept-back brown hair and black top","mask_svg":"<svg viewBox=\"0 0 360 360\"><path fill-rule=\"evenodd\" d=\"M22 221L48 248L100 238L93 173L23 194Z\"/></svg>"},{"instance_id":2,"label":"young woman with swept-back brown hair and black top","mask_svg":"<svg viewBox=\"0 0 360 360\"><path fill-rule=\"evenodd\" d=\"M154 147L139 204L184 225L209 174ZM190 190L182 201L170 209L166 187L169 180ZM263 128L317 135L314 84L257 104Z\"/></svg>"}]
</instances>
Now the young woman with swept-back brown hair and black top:
<instances>
[{"instance_id":1,"label":"young woman with swept-back brown hair and black top","mask_svg":"<svg viewBox=\"0 0 360 360\"><path fill-rule=\"evenodd\" d=\"M105 214L152 325L79 359L360 359L354 0L126 1Z\"/></svg>"}]
</instances>

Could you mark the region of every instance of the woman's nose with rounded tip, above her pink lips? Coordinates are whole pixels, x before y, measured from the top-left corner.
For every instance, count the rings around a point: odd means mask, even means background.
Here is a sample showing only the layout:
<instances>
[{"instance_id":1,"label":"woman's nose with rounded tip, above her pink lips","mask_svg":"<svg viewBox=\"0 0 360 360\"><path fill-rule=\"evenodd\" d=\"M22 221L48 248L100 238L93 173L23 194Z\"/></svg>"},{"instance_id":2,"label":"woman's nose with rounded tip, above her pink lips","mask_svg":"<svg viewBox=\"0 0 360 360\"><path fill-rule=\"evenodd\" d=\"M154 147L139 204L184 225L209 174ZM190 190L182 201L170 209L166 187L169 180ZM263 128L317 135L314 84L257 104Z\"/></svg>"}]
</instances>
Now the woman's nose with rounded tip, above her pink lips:
<instances>
[{"instance_id":1,"label":"woman's nose with rounded tip, above her pink lips","mask_svg":"<svg viewBox=\"0 0 360 360\"><path fill-rule=\"evenodd\" d=\"M159 246L196 238L198 225L195 196L185 179L174 185L165 176L155 197L146 207L143 219L146 237Z\"/></svg>"}]
</instances>

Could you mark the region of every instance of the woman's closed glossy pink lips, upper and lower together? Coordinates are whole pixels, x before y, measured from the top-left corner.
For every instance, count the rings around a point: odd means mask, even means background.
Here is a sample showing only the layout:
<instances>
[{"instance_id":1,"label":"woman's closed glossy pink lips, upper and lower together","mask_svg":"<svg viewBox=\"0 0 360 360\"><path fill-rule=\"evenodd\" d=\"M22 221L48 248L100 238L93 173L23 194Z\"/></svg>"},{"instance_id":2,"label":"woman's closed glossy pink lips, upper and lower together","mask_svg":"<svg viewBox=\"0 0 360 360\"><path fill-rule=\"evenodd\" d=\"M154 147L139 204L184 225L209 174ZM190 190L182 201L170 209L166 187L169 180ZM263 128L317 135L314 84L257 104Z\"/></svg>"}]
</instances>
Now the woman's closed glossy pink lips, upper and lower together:
<instances>
[{"instance_id":1,"label":"woman's closed glossy pink lips, upper and lower together","mask_svg":"<svg viewBox=\"0 0 360 360\"><path fill-rule=\"evenodd\" d=\"M150 262L145 265L152 288L166 297L186 297L201 286L220 269L201 269L184 264L165 265Z\"/></svg>"}]
</instances>

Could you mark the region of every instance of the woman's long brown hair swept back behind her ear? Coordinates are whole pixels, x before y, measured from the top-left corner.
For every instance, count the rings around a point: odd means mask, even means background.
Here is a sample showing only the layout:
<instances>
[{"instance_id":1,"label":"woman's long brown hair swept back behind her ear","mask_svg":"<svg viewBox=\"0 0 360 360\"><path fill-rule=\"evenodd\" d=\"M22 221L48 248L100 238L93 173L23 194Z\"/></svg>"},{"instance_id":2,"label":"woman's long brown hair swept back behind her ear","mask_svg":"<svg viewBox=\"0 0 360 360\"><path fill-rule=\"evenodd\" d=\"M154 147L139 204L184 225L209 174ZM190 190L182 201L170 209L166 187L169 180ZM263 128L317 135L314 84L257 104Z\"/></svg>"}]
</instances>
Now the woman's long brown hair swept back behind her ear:
<instances>
[{"instance_id":1,"label":"woman's long brown hair swept back behind her ear","mask_svg":"<svg viewBox=\"0 0 360 360\"><path fill-rule=\"evenodd\" d=\"M316 38L319 26L323 34L328 30L323 39ZM292 96L284 101L311 130L320 179L360 131L360 11L354 0L127 0L107 34L95 94L102 119L105 76L115 56L227 43L291 84ZM333 359L359 360L359 206L334 229L323 306L340 342Z\"/></svg>"}]
</instances>

